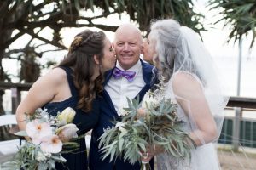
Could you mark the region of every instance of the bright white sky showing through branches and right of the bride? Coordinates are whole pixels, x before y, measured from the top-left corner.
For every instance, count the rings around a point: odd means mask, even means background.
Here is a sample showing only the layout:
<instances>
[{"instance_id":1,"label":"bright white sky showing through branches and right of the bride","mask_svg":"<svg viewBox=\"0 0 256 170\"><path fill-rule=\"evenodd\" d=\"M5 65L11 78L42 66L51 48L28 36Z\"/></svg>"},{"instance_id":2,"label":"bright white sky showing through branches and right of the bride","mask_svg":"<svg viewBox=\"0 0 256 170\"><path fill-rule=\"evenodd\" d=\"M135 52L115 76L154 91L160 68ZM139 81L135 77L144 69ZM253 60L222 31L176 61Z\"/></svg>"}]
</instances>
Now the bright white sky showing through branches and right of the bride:
<instances>
[{"instance_id":1,"label":"bright white sky showing through branches and right of the bride","mask_svg":"<svg viewBox=\"0 0 256 170\"><path fill-rule=\"evenodd\" d=\"M219 75L222 76L224 81L224 88L227 95L236 96L237 93L237 84L238 84L238 54L239 48L237 42L234 44L231 41L229 44L226 42L228 39L229 28L223 29L222 23L218 25L210 25L215 20L218 20L216 17L217 11L209 12L206 8L205 3L207 0L198 0L195 2L195 10L205 14L206 20L204 21L208 31L201 32L204 44L212 54L212 59L215 61ZM93 15L93 13L90 13ZM218 16L219 17L219 16ZM122 14L119 18L119 15L113 14L108 16L107 20L96 20L98 23L113 23L115 26L119 26L124 23L130 22L128 15ZM97 28L90 28L94 31L99 31ZM63 37L64 44L68 47L73 40L73 37L79 33L79 31L84 30L84 28L65 28L61 31L61 36ZM49 30L44 30L41 32L44 36L49 35ZM113 42L113 32L105 31L108 38ZM242 45L242 55L241 55L241 88L239 89L240 96L256 98L256 48L255 45L249 53L248 47L249 42L252 36L245 37ZM50 37L49 37L50 38ZM21 37L17 42L13 43L11 47L22 47L22 42L27 42L29 40L28 36ZM46 46L44 48L50 48ZM40 63L46 63L47 60L55 60L59 62L63 56L66 54L66 51L46 53L43 58L40 59ZM15 65L15 66L14 66ZM19 63L16 63L14 60L4 59L3 67L8 73L16 74L18 72ZM44 70L42 75L44 75L48 70ZM15 80L17 81L17 80ZM15 82L14 81L14 82Z\"/></svg>"}]
</instances>

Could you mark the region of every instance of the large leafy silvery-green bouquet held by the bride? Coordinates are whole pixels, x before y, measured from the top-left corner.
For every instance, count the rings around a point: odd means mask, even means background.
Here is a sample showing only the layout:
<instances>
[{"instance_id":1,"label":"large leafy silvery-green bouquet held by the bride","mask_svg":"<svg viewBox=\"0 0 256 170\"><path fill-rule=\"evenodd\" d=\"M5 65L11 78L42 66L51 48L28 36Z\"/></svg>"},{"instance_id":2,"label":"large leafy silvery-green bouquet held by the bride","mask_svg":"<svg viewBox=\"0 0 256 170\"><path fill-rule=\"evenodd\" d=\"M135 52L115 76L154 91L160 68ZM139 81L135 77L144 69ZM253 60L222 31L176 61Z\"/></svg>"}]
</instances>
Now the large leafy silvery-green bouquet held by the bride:
<instances>
[{"instance_id":1,"label":"large leafy silvery-green bouquet held by the bride","mask_svg":"<svg viewBox=\"0 0 256 170\"><path fill-rule=\"evenodd\" d=\"M177 104L172 99L163 97L164 83L160 82L153 92L145 94L142 103L139 99L128 100L128 108L120 122L105 129L100 138L102 159L110 156L110 161L117 156L134 164L141 161L142 152L147 146L160 145L172 156L189 157L195 143L183 131L183 122L177 117Z\"/></svg>"}]
</instances>

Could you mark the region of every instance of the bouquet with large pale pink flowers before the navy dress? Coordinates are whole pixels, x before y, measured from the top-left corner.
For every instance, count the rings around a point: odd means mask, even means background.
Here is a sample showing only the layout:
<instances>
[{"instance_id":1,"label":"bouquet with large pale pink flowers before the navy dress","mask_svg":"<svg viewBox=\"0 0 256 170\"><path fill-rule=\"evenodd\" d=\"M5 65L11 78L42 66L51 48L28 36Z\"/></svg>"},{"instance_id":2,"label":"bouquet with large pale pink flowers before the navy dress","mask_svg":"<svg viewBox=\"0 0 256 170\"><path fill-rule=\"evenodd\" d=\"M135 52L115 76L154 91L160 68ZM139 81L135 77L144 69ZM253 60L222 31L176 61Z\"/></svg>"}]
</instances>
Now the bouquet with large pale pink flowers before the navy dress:
<instances>
[{"instance_id":1,"label":"bouquet with large pale pink flowers before the navy dress","mask_svg":"<svg viewBox=\"0 0 256 170\"><path fill-rule=\"evenodd\" d=\"M47 110L38 109L32 116L26 116L26 131L15 133L18 136L28 136L31 140L22 144L13 161L3 167L23 170L54 169L55 162L65 162L61 156L79 148L76 142L78 127L73 124L75 111L67 107L57 116L50 116Z\"/></svg>"}]
</instances>

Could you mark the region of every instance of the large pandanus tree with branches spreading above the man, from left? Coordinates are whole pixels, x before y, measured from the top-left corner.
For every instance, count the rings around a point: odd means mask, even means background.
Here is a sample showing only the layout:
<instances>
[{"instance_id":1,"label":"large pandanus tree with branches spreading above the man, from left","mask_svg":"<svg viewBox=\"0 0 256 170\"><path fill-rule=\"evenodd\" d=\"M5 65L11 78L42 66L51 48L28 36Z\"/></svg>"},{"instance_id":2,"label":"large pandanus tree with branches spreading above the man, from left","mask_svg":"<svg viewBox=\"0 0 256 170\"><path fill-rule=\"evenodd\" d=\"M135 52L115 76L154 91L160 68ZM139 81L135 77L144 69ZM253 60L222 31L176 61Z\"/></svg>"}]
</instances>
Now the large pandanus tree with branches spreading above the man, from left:
<instances>
[{"instance_id":1,"label":"large pandanus tree with branches spreading above the man, from left","mask_svg":"<svg viewBox=\"0 0 256 170\"><path fill-rule=\"evenodd\" d=\"M38 58L49 51L63 50L61 29L65 27L97 27L115 31L114 23L96 24L111 14L128 14L142 31L148 31L150 20L172 17L195 31L204 30L201 14L193 10L192 0L5 0L0 1L0 81L10 82L3 59L20 61L20 81L34 82L40 75ZM91 15L91 12L93 15ZM94 13L96 12L96 13ZM90 13L90 14L89 14ZM42 33L48 29L51 37ZM22 48L10 48L26 36ZM37 41L37 43L35 42ZM42 50L50 45L53 48ZM2 99L3 91L0 93ZM1 100L0 100L1 102ZM3 106L0 107L3 114Z\"/></svg>"}]
</instances>

